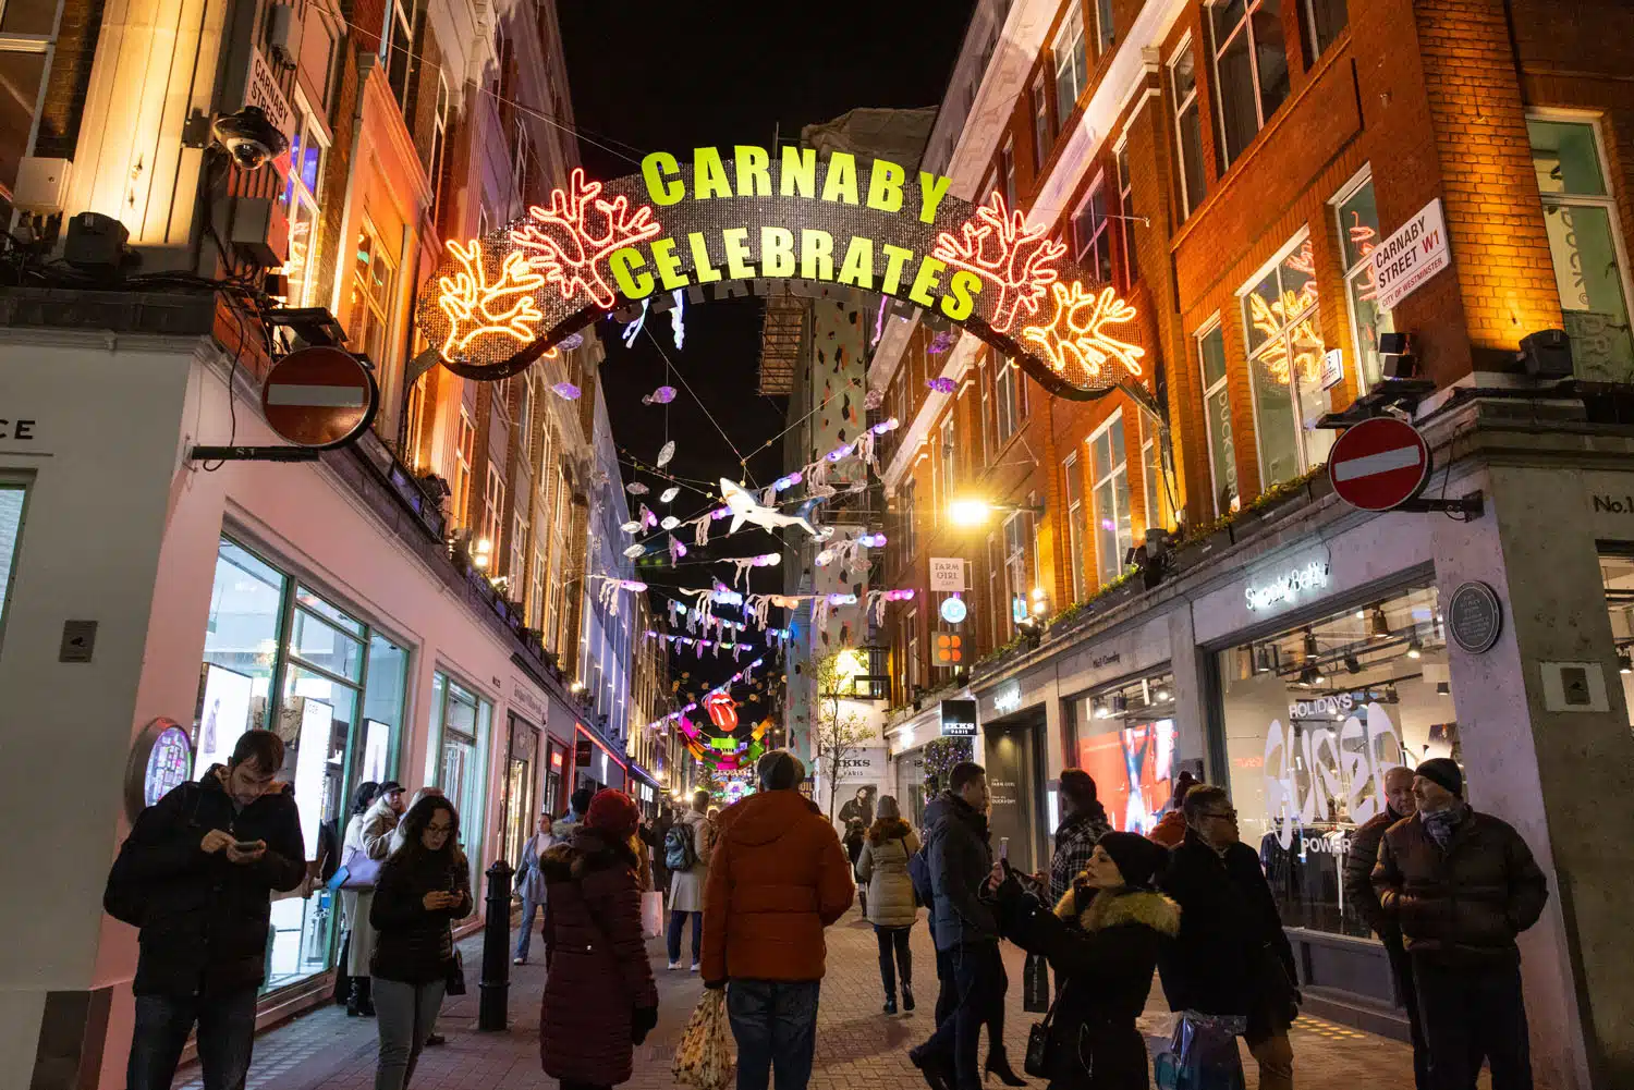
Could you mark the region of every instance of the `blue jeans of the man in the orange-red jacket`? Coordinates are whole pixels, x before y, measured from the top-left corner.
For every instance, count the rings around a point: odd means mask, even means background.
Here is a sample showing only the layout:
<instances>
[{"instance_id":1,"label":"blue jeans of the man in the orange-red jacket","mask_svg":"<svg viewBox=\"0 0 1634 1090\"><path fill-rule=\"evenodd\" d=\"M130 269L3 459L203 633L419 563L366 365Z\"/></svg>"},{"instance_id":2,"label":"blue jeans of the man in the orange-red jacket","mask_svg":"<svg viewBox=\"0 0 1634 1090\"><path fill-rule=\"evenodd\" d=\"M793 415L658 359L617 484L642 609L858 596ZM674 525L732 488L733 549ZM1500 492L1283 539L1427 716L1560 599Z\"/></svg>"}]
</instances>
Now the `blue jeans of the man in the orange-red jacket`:
<instances>
[{"instance_id":1,"label":"blue jeans of the man in the orange-red jacket","mask_svg":"<svg viewBox=\"0 0 1634 1090\"><path fill-rule=\"evenodd\" d=\"M732 981L725 1013L737 1039L737 1090L806 1090L817 1049L822 981Z\"/></svg>"}]
</instances>

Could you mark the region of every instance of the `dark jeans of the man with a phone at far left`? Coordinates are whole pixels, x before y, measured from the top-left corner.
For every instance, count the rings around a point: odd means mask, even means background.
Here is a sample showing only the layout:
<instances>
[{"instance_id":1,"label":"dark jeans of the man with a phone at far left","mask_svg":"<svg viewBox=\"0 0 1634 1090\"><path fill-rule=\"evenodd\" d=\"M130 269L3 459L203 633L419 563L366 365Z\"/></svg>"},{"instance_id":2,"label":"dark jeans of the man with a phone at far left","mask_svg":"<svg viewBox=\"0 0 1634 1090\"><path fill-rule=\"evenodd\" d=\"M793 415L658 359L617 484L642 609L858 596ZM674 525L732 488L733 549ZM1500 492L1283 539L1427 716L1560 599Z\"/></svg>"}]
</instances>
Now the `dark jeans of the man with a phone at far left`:
<instances>
[{"instance_id":1,"label":"dark jeans of the man with a phone at far left","mask_svg":"<svg viewBox=\"0 0 1634 1090\"><path fill-rule=\"evenodd\" d=\"M193 1023L199 1026L204 1090L240 1090L255 1046L255 992L137 995L127 1090L170 1090Z\"/></svg>"}]
</instances>

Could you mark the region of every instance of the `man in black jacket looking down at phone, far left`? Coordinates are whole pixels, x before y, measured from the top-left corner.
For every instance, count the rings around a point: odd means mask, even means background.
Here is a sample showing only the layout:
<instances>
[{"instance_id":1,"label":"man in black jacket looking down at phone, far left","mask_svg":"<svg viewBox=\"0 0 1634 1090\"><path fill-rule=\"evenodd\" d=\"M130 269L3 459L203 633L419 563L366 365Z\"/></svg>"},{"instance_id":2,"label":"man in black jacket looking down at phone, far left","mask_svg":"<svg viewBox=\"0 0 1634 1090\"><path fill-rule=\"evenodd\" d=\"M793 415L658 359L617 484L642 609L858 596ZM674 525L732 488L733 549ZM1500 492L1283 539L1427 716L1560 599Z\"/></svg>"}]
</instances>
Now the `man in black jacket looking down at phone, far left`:
<instances>
[{"instance_id":1,"label":"man in black jacket looking down at phone, far left","mask_svg":"<svg viewBox=\"0 0 1634 1090\"><path fill-rule=\"evenodd\" d=\"M142 928L127 1090L170 1090L198 1023L204 1090L237 1090L250 1067L273 891L306 876L301 815L273 776L284 744L239 739L227 765L142 812L103 904Z\"/></svg>"}]
</instances>

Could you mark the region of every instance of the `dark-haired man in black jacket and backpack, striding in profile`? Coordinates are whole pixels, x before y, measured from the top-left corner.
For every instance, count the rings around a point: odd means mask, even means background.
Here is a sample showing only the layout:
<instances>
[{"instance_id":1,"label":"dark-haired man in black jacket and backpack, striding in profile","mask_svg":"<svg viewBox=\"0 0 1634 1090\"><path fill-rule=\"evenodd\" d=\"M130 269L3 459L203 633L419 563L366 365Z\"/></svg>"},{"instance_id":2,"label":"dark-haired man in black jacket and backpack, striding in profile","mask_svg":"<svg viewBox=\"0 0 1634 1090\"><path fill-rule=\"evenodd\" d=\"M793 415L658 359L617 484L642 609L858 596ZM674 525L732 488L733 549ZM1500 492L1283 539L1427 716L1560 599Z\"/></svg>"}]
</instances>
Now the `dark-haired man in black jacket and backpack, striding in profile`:
<instances>
[{"instance_id":1,"label":"dark-haired man in black jacket and backpack, striding in profile","mask_svg":"<svg viewBox=\"0 0 1634 1090\"><path fill-rule=\"evenodd\" d=\"M1003 1003L1007 979L998 956L998 922L985 894L993 879L987 843L987 771L972 762L953 766L948 791L925 807L925 851L931 878L931 931L936 958L949 971L953 1010L930 1041L909 1052L931 1090L977 1090L982 1026ZM941 1007L941 1003L938 1003ZM940 1013L940 1012L938 1012ZM1005 1064L1003 1038L989 1041L989 1065Z\"/></svg>"}]
</instances>

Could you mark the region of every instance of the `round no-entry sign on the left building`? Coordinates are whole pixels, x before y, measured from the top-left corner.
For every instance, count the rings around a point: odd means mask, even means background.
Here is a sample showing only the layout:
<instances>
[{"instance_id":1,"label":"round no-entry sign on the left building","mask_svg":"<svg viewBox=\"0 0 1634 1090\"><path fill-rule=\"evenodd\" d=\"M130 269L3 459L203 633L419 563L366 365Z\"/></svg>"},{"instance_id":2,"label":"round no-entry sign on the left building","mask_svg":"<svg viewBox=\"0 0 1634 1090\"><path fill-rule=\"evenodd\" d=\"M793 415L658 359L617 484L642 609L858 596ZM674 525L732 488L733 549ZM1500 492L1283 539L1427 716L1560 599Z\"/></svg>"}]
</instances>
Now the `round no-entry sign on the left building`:
<instances>
[{"instance_id":1,"label":"round no-entry sign on the left building","mask_svg":"<svg viewBox=\"0 0 1634 1090\"><path fill-rule=\"evenodd\" d=\"M273 364L261 386L261 413L296 446L343 446L379 409L374 376L350 351L317 345Z\"/></svg>"}]
</instances>

